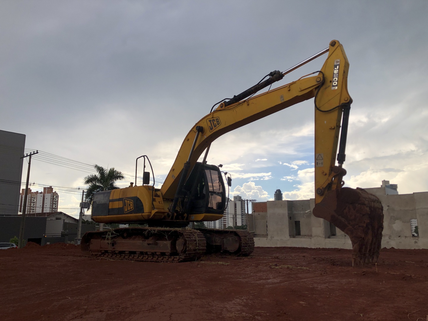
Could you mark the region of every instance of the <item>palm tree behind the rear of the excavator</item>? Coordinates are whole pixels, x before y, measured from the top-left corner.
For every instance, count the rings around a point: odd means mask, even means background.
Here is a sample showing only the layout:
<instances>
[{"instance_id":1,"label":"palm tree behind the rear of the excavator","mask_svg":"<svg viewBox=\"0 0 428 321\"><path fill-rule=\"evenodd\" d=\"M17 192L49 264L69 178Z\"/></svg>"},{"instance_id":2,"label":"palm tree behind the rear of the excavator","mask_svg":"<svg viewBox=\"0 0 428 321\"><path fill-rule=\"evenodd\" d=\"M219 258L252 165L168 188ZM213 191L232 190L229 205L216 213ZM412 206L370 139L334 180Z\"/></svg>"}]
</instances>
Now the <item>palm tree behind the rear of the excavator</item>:
<instances>
[{"instance_id":1,"label":"palm tree behind the rear of the excavator","mask_svg":"<svg viewBox=\"0 0 428 321\"><path fill-rule=\"evenodd\" d=\"M83 184L88 185L85 200L89 203L92 202L94 193L102 192L103 190L115 190L119 187L114 183L125 178L122 172L114 169L114 167L107 170L95 164L94 168L98 172L98 175L91 174L83 178Z\"/></svg>"}]
</instances>

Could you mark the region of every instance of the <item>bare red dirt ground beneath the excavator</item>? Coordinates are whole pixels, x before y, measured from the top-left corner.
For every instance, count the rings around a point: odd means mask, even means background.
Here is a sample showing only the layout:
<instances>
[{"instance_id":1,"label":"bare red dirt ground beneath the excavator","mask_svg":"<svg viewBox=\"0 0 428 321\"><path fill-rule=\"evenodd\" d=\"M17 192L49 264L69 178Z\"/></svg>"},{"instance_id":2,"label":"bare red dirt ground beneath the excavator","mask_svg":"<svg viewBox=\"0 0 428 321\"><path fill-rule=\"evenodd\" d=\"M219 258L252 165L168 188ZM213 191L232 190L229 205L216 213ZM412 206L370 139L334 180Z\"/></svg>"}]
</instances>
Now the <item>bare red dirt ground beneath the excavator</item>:
<instances>
[{"instance_id":1,"label":"bare red dirt ground beneath the excavator","mask_svg":"<svg viewBox=\"0 0 428 321\"><path fill-rule=\"evenodd\" d=\"M0 320L428 320L428 250L256 247L249 257L152 263L74 245L0 251Z\"/></svg>"}]
</instances>

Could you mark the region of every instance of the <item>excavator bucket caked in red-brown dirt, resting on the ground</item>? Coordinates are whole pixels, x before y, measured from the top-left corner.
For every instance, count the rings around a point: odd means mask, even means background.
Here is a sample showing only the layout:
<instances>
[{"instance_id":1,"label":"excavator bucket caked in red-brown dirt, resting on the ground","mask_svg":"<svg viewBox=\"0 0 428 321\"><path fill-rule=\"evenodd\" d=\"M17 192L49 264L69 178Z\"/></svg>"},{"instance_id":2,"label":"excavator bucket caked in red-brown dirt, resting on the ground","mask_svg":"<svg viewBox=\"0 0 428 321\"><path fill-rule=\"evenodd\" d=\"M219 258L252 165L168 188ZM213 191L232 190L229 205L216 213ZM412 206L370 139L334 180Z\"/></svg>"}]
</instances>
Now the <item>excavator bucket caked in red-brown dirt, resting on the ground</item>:
<instances>
[{"instance_id":1,"label":"excavator bucket caked in red-brown dirt, resting on the ground","mask_svg":"<svg viewBox=\"0 0 428 321\"><path fill-rule=\"evenodd\" d=\"M352 243L352 266L377 262L383 231L383 206L362 188L342 187L326 193L313 210L334 224Z\"/></svg>"}]
</instances>

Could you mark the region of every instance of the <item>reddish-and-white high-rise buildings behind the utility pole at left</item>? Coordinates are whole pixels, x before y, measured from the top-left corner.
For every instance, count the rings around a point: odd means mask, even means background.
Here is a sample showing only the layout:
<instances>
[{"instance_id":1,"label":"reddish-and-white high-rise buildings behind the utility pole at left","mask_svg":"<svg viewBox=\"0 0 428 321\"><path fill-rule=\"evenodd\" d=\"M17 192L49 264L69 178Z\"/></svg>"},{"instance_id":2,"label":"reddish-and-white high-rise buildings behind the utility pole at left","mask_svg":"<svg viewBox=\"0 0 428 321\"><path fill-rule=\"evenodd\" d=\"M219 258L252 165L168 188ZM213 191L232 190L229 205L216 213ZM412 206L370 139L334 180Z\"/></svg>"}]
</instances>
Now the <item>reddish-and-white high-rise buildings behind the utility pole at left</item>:
<instances>
[{"instance_id":1,"label":"reddish-and-white high-rise buildings behind the utility pole at left","mask_svg":"<svg viewBox=\"0 0 428 321\"><path fill-rule=\"evenodd\" d=\"M19 211L22 213L25 188L21 190L19 197ZM53 191L53 187L43 187L43 192L33 192L28 188L26 213L47 213L58 211L58 193Z\"/></svg>"}]
</instances>

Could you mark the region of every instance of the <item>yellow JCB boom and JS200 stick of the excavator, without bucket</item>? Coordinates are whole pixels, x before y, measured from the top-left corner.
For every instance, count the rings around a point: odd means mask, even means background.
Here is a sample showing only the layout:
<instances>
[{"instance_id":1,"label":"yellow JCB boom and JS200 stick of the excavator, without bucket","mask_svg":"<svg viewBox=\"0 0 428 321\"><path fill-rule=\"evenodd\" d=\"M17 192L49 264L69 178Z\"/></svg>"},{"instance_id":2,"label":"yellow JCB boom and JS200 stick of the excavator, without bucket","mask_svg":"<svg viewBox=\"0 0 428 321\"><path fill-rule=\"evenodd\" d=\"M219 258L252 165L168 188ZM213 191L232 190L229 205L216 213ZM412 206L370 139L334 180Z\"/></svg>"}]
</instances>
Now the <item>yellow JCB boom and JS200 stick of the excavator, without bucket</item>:
<instances>
[{"instance_id":1,"label":"yellow JCB boom and JS200 stick of the excavator, without bucket","mask_svg":"<svg viewBox=\"0 0 428 321\"><path fill-rule=\"evenodd\" d=\"M328 190L340 188L342 176L346 172L335 166L335 160L342 109L351 103L347 88L348 68L349 62L342 45L333 40L318 75L303 76L292 83L227 107L221 103L216 110L199 120L187 134L160 189L163 198L174 198L183 165L191 154L194 143L190 168L193 168L202 152L221 135L314 97L315 203L320 202ZM198 126L202 127L202 131ZM200 132L194 142L197 128Z\"/></svg>"}]
</instances>

